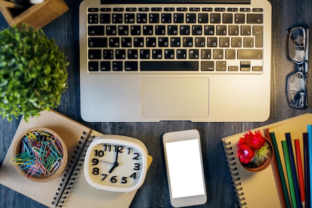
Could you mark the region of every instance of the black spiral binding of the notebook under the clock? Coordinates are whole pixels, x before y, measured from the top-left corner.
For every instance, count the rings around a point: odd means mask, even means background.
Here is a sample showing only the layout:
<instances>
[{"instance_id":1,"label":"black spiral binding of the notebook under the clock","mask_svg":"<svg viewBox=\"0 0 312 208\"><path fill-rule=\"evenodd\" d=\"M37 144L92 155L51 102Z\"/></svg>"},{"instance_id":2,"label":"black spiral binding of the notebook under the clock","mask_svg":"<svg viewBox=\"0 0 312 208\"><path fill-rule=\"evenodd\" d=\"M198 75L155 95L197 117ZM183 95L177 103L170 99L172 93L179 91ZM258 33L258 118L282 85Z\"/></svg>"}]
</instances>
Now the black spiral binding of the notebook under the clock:
<instances>
[{"instance_id":1,"label":"black spiral binding of the notebook under the clock","mask_svg":"<svg viewBox=\"0 0 312 208\"><path fill-rule=\"evenodd\" d=\"M92 142L95 136L91 135L92 130L90 133L83 132L83 136L81 136L78 146L76 147L77 150L74 151L74 155L72 155L72 160L70 160L70 164L66 169L66 173L64 174L64 178L62 179L62 183L60 183L60 187L57 189L58 192L55 194L54 201L52 205L55 208L61 208L62 204L65 202L66 195L69 194L69 190L71 186L74 184L75 176L77 176L80 168L82 166L82 162L84 161L85 152L89 147L89 144Z\"/></svg>"}]
</instances>

